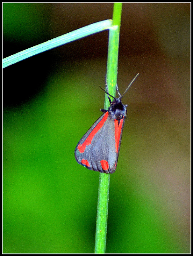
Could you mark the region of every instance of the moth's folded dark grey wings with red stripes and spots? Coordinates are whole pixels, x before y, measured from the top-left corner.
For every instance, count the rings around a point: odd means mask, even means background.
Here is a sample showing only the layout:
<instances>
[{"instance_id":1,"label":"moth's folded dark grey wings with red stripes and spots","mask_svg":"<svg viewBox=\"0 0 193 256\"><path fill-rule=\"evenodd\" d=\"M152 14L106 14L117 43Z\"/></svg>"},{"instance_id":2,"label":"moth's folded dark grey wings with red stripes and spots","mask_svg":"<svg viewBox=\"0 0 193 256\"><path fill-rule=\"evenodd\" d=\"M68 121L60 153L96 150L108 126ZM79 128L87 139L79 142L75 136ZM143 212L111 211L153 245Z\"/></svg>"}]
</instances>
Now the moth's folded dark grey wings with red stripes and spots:
<instances>
[{"instance_id":1,"label":"moth's folded dark grey wings with red stripes and spots","mask_svg":"<svg viewBox=\"0 0 193 256\"><path fill-rule=\"evenodd\" d=\"M115 122L117 120L112 119L106 112L90 127L75 148L75 159L79 164L94 171L115 172L125 117L119 127L118 148L115 141Z\"/></svg>"}]
</instances>

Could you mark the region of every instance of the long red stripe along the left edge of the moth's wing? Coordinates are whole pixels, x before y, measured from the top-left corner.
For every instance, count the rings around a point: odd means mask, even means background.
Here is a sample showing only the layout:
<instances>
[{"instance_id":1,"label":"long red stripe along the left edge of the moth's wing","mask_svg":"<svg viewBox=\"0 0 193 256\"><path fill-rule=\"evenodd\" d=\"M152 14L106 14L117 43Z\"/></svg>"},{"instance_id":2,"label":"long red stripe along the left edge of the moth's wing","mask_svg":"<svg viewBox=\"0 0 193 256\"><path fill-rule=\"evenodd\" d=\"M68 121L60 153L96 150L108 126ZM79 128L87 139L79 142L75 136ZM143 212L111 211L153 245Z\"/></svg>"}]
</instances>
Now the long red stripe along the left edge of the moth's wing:
<instances>
[{"instance_id":1,"label":"long red stripe along the left edge of the moth's wing","mask_svg":"<svg viewBox=\"0 0 193 256\"><path fill-rule=\"evenodd\" d=\"M80 153L83 153L86 146L90 145L92 139L94 138L95 134L101 129L101 127L104 125L105 121L107 120L107 117L109 115L109 112L107 111L102 118L102 120L95 126L95 128L90 132L89 136L86 138L86 140L78 145L78 150Z\"/></svg>"}]
</instances>

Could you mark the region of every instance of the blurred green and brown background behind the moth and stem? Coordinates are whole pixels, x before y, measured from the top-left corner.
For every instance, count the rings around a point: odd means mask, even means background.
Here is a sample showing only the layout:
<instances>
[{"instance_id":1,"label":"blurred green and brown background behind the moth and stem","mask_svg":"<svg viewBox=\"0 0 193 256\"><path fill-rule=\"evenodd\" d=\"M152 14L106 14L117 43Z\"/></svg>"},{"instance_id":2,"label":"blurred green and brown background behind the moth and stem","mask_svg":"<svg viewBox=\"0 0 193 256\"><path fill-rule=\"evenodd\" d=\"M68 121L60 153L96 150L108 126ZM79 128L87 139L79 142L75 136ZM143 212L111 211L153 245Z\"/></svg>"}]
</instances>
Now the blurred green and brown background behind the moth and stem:
<instances>
[{"instance_id":1,"label":"blurred green and brown background behind the moth and stem","mask_svg":"<svg viewBox=\"0 0 193 256\"><path fill-rule=\"evenodd\" d=\"M112 3L4 3L4 58L91 23ZM93 253L99 173L77 142L102 114L108 31L3 70L3 252ZM190 252L190 4L123 4L128 104L106 253Z\"/></svg>"}]
</instances>

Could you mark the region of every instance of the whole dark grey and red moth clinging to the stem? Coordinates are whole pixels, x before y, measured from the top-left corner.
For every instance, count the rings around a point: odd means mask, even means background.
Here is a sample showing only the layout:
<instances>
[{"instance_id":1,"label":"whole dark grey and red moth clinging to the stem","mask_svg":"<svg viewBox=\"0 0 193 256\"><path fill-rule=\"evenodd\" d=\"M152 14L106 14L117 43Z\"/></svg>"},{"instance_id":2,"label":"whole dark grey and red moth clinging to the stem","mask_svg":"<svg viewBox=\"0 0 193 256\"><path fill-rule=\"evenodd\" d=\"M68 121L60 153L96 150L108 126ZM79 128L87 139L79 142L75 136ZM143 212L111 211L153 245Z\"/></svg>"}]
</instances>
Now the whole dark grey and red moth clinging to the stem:
<instances>
[{"instance_id":1,"label":"whole dark grey and red moth clinging to the stem","mask_svg":"<svg viewBox=\"0 0 193 256\"><path fill-rule=\"evenodd\" d=\"M138 75L133 78L132 82ZM113 173L117 167L127 105L121 102L125 92L121 96L118 85L116 85L116 90L119 98L113 97L104 90L107 93L110 107L108 110L101 109L104 114L84 134L75 148L75 159L78 164L90 170ZM109 95L114 98L112 102Z\"/></svg>"}]
</instances>

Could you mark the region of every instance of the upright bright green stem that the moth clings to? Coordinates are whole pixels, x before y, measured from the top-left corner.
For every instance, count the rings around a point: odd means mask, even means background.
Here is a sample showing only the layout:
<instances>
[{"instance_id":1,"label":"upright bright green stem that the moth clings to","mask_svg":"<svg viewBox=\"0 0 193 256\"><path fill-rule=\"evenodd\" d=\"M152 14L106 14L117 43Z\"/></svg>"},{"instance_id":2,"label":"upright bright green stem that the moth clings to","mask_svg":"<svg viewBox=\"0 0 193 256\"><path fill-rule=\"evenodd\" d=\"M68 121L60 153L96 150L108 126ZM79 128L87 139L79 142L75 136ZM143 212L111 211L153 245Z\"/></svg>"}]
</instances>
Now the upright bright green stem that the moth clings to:
<instances>
[{"instance_id":1,"label":"upright bright green stem that the moth clings to","mask_svg":"<svg viewBox=\"0 0 193 256\"><path fill-rule=\"evenodd\" d=\"M109 93L115 97L118 69L118 44L121 22L122 3L114 3L113 26L109 30L109 47L107 59L107 85ZM108 109L110 103L105 94L104 109ZM95 236L95 253L105 253L107 217L109 202L110 174L99 174L97 224Z\"/></svg>"}]
</instances>

